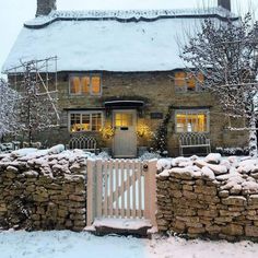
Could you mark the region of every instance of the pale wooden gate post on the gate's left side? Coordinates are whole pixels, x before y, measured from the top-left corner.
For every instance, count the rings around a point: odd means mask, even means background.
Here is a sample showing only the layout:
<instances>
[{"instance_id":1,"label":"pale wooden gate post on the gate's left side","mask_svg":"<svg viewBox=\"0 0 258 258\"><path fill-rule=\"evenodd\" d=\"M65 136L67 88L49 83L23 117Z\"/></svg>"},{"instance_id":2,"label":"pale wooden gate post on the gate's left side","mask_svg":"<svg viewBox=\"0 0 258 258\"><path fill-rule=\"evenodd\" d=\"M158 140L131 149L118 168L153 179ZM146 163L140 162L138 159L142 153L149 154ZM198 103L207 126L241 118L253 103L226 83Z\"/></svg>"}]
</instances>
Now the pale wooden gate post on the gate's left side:
<instances>
[{"instance_id":1,"label":"pale wooden gate post on the gate's left side","mask_svg":"<svg viewBox=\"0 0 258 258\"><path fill-rule=\"evenodd\" d=\"M86 225L91 226L96 216L96 173L95 173L95 161L86 161Z\"/></svg>"}]
</instances>

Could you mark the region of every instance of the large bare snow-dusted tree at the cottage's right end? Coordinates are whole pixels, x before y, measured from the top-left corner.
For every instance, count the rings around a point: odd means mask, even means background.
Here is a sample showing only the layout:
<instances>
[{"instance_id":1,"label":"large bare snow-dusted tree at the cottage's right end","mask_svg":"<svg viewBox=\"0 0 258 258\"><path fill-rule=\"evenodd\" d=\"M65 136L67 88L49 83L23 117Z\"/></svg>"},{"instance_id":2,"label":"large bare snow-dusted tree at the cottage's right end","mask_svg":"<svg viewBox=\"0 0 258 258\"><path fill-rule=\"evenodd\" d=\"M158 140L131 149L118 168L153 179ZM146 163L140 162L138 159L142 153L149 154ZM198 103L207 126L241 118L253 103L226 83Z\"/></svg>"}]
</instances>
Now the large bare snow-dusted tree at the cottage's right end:
<instances>
[{"instance_id":1,"label":"large bare snow-dusted tree at the cottage's right end","mask_svg":"<svg viewBox=\"0 0 258 258\"><path fill-rule=\"evenodd\" d=\"M249 131L253 156L257 156L257 54L258 23L247 13L238 20L204 20L195 36L188 35L180 55L197 79L199 73L204 75L204 81L200 81L202 89L215 94L224 114L246 120L247 126L228 129Z\"/></svg>"}]
</instances>

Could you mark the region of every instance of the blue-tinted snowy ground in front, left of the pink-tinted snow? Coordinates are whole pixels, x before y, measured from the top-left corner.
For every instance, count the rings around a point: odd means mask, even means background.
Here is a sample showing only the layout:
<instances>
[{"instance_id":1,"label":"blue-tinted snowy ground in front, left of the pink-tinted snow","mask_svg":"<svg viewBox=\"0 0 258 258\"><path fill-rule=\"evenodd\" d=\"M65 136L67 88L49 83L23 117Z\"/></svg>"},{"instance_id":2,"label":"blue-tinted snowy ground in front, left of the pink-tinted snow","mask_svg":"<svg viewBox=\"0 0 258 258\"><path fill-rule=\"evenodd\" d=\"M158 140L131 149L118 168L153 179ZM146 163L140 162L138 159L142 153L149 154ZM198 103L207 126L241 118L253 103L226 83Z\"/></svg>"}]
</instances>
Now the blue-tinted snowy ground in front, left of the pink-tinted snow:
<instances>
[{"instance_id":1,"label":"blue-tinted snowy ground in front, left of the pink-tinted snow","mask_svg":"<svg viewBox=\"0 0 258 258\"><path fill-rule=\"evenodd\" d=\"M144 241L132 237L69 231L0 234L0 258L131 258L145 257L144 249Z\"/></svg>"}]
</instances>

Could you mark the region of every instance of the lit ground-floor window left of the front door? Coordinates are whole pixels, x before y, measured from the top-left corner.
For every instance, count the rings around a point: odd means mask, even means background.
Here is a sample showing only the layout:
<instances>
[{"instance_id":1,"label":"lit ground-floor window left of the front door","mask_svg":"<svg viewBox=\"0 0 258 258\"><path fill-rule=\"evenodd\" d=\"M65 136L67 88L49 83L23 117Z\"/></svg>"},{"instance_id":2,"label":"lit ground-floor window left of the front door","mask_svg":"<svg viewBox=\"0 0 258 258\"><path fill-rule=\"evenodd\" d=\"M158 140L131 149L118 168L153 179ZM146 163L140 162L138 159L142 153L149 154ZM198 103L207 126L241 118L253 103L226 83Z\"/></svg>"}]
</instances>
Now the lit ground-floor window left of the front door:
<instances>
[{"instance_id":1,"label":"lit ground-floor window left of the front door","mask_svg":"<svg viewBox=\"0 0 258 258\"><path fill-rule=\"evenodd\" d=\"M97 112L70 113L70 131L99 131L103 125L103 114Z\"/></svg>"}]
</instances>

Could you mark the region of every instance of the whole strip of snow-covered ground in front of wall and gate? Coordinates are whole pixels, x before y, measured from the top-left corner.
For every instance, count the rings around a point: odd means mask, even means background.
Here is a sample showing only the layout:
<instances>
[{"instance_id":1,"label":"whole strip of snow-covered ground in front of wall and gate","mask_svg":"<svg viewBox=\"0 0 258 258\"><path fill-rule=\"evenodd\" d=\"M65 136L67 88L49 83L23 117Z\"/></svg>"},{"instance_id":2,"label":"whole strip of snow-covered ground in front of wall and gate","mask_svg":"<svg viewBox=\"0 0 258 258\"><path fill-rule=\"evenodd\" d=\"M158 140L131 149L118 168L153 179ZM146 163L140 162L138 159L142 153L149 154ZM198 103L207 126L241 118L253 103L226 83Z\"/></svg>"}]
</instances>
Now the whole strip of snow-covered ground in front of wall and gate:
<instances>
[{"instance_id":1,"label":"whole strip of snow-covered ground in front of wall and gate","mask_svg":"<svg viewBox=\"0 0 258 258\"><path fill-rule=\"evenodd\" d=\"M178 237L139 239L89 233L2 232L1 258L255 258L258 244L186 241Z\"/></svg>"}]
</instances>

